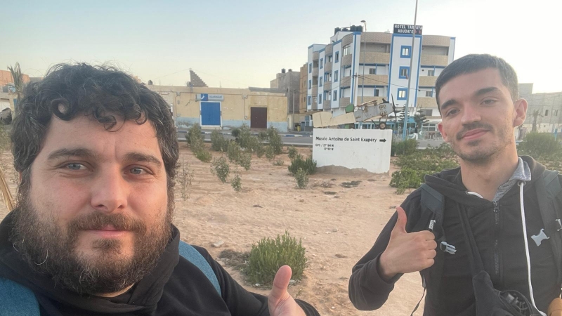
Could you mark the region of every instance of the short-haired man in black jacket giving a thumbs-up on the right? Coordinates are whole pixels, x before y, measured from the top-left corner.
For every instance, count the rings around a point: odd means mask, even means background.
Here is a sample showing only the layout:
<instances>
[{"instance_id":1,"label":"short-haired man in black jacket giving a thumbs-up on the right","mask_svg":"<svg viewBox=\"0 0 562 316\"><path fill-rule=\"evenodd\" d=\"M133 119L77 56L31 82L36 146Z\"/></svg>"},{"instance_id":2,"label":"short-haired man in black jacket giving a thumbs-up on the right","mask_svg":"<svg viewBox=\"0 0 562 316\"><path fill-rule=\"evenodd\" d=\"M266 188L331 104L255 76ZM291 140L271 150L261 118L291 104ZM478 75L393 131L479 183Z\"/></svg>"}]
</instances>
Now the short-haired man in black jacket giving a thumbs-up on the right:
<instances>
[{"instance_id":1,"label":"short-haired man in black jacket giving a thumbs-up on the right","mask_svg":"<svg viewBox=\"0 0 562 316\"><path fill-rule=\"evenodd\" d=\"M544 192L559 189L562 178L517 155L514 129L525 121L527 102L518 96L516 73L501 58L466 55L441 72L436 93L443 119L438 129L460 167L426 176L426 185L397 208L353 267L353 305L380 308L401 275L420 272L424 315L484 315L481 286L488 283L478 280L487 274L490 293L518 291L525 296L511 292L518 302L526 298L529 310L546 312L561 294L560 247L554 243L560 240L562 199ZM556 211L556 219L543 209Z\"/></svg>"}]
</instances>

